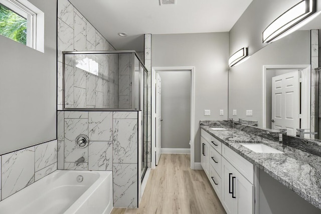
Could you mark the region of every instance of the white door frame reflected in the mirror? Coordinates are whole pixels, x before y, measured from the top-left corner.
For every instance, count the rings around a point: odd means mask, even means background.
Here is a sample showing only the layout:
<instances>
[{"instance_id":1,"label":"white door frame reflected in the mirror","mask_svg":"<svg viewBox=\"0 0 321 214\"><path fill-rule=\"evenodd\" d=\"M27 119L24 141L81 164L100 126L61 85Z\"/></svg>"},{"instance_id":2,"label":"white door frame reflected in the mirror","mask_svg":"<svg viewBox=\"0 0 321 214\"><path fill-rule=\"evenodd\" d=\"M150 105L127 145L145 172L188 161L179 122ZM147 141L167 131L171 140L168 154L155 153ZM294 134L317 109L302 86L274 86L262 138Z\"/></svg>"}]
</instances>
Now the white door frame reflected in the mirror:
<instances>
[{"instance_id":1,"label":"white door frame reflected in the mirror","mask_svg":"<svg viewBox=\"0 0 321 214\"><path fill-rule=\"evenodd\" d=\"M308 77L307 77L307 82L308 84L305 85L305 88L303 88L303 93L304 93L304 97L310 97L310 103L308 106L310 106L312 99L315 99L311 96L311 65L263 65L263 128L266 128L266 72L268 72L268 70L277 70L277 69L307 69L307 71L309 72ZM308 124L309 127L311 127L311 117L310 117L310 111L311 108L304 108L302 109L302 112L307 112L307 120L304 121L304 123Z\"/></svg>"}]
</instances>

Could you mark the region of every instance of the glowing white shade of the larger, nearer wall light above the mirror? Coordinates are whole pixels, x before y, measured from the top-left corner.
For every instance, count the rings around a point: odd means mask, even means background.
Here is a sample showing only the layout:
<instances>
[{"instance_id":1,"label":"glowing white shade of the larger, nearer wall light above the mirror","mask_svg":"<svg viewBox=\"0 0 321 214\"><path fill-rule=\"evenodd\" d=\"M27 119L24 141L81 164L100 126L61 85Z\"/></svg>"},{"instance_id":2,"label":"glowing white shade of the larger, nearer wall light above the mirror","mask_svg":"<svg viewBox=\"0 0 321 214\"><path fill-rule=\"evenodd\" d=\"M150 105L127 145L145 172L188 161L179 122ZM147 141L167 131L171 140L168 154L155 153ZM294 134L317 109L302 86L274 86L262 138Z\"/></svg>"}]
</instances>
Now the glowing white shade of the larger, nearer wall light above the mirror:
<instances>
[{"instance_id":1,"label":"glowing white shade of the larger, nearer wall light above the mirror","mask_svg":"<svg viewBox=\"0 0 321 214\"><path fill-rule=\"evenodd\" d=\"M282 34L314 14L315 8L315 0L304 0L287 10L263 31L263 43L277 40Z\"/></svg>"}]
</instances>

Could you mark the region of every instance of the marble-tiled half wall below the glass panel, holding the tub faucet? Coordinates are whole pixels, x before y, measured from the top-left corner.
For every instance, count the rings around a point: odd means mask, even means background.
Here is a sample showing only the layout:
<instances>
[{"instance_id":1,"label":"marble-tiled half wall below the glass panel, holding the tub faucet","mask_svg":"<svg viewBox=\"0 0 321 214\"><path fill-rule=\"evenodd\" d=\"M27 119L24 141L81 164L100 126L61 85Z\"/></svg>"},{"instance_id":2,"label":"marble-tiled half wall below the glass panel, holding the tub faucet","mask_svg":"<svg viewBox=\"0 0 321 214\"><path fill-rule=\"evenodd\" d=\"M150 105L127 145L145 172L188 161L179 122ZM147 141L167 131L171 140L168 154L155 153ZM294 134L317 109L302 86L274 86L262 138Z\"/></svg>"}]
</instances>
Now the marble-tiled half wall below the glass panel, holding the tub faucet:
<instances>
[{"instance_id":1,"label":"marble-tiled half wall below the glass panel, holding the tub faucet","mask_svg":"<svg viewBox=\"0 0 321 214\"><path fill-rule=\"evenodd\" d=\"M139 120L137 111L58 111L58 169L113 171L114 206L137 207ZM76 146L79 134L88 147Z\"/></svg>"}]
</instances>

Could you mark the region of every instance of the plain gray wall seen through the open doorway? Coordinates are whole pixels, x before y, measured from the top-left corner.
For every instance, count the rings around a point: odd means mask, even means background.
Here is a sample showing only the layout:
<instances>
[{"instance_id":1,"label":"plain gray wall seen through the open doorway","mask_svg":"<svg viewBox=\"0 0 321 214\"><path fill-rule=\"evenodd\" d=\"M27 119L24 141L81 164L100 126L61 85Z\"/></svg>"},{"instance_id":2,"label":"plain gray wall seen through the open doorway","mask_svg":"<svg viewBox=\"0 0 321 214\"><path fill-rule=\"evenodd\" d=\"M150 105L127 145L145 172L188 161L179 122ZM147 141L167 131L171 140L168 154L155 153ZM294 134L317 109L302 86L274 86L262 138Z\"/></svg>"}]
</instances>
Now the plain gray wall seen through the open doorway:
<instances>
[{"instance_id":1,"label":"plain gray wall seen through the open doorway","mask_svg":"<svg viewBox=\"0 0 321 214\"><path fill-rule=\"evenodd\" d=\"M162 78L162 148L190 148L191 72L158 72Z\"/></svg>"}]
</instances>

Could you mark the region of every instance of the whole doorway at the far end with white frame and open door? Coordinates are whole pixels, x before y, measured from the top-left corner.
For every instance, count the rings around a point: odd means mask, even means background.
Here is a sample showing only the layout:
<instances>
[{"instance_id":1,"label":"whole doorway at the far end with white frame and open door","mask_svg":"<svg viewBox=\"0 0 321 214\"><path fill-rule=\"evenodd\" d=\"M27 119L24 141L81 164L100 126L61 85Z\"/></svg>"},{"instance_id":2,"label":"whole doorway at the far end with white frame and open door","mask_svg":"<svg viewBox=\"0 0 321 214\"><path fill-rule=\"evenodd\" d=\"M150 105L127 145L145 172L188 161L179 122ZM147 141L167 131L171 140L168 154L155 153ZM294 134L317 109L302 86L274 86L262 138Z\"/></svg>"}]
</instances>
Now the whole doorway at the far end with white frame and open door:
<instances>
[{"instance_id":1,"label":"whole doorway at the far end with white frame and open door","mask_svg":"<svg viewBox=\"0 0 321 214\"><path fill-rule=\"evenodd\" d=\"M159 82L162 83L161 93ZM151 167L157 165L162 152L190 153L191 168L194 169L194 67L154 67L151 86L151 94L154 95L151 110ZM162 95L161 99L159 94ZM184 99L181 104L180 99ZM159 109L162 109L161 117ZM164 133L159 135L157 132ZM185 136L186 139L180 136Z\"/></svg>"}]
</instances>

